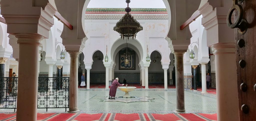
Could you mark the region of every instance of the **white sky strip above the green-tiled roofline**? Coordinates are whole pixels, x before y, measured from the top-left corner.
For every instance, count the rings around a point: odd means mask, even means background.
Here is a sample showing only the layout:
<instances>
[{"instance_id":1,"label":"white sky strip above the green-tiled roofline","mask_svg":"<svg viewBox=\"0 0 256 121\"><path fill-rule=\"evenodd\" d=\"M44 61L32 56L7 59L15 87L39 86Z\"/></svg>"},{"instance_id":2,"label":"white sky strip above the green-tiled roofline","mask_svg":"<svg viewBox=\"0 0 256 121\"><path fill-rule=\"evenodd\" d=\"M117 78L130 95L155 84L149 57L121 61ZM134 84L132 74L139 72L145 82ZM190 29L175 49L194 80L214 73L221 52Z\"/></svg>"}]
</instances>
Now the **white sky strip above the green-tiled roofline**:
<instances>
[{"instance_id":1,"label":"white sky strip above the green-tiled roofline","mask_svg":"<svg viewBox=\"0 0 256 121\"><path fill-rule=\"evenodd\" d=\"M126 8L125 0L91 0L87 8ZM166 8L163 0L131 0L130 8Z\"/></svg>"}]
</instances>

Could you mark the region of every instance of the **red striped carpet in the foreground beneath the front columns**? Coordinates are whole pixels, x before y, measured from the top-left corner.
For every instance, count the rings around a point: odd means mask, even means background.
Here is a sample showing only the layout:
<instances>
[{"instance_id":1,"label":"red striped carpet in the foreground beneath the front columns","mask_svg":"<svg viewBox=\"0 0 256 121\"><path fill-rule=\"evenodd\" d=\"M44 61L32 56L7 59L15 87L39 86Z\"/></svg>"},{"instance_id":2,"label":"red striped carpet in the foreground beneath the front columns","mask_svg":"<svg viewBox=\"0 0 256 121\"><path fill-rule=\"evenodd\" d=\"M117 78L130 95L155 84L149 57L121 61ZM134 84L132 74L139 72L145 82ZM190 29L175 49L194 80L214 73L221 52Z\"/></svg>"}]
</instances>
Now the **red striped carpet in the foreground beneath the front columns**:
<instances>
[{"instance_id":1,"label":"red striped carpet in the foreground beneath the front columns","mask_svg":"<svg viewBox=\"0 0 256 121\"><path fill-rule=\"evenodd\" d=\"M16 120L16 113L0 113L0 120ZM134 120L217 120L216 113L37 113L37 120L48 121L134 121Z\"/></svg>"}]
</instances>

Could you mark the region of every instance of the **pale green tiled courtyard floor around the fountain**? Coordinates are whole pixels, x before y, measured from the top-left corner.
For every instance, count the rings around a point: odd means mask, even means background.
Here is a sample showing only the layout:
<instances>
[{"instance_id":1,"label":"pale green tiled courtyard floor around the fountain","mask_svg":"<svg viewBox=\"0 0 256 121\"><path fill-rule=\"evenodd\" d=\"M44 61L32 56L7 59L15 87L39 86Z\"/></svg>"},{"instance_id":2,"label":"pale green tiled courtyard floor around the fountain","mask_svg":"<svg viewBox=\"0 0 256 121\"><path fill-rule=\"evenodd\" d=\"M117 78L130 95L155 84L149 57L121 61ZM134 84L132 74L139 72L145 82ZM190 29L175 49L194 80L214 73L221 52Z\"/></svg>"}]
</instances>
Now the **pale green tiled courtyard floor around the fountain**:
<instances>
[{"instance_id":1,"label":"pale green tiled courtyard floor around the fountain","mask_svg":"<svg viewBox=\"0 0 256 121\"><path fill-rule=\"evenodd\" d=\"M101 98L109 95L108 90L79 90L78 108L81 113L176 113L176 90L135 90L131 96L154 98L148 102L106 102ZM123 96L124 92L118 90L116 96ZM209 94L210 95L210 94ZM186 113L216 113L216 99L185 91ZM68 109L67 109L68 110ZM14 109L0 109L0 112L13 112ZM38 109L46 112L46 109ZM48 112L65 112L65 109L53 108Z\"/></svg>"}]
</instances>

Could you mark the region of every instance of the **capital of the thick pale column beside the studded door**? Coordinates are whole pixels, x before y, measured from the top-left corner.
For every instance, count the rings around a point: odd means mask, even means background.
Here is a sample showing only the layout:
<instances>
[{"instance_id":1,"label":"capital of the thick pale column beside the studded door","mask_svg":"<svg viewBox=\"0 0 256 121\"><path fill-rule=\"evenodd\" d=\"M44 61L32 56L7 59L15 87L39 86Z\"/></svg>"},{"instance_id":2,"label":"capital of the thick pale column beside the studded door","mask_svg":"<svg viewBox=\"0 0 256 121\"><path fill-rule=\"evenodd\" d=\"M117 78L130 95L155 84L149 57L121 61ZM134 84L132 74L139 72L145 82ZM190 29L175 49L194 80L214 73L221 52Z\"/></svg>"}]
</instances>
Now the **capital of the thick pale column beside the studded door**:
<instances>
[{"instance_id":1,"label":"capital of the thick pale column beside the studded door","mask_svg":"<svg viewBox=\"0 0 256 121\"><path fill-rule=\"evenodd\" d=\"M211 46L213 54L236 53L235 43L217 43Z\"/></svg>"}]
</instances>

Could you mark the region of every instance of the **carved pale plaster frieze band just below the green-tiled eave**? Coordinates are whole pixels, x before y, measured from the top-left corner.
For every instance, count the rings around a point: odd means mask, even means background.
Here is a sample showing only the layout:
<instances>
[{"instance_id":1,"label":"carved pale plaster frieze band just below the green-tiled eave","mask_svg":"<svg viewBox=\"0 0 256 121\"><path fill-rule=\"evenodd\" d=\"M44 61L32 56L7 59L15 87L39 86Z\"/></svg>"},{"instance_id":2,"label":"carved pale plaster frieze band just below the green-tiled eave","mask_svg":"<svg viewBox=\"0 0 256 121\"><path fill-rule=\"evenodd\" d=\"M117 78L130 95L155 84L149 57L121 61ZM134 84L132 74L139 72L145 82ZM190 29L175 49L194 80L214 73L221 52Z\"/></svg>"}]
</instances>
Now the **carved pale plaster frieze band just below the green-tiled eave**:
<instances>
[{"instance_id":1,"label":"carved pale plaster frieze band just below the green-tiled eave","mask_svg":"<svg viewBox=\"0 0 256 121\"><path fill-rule=\"evenodd\" d=\"M86 14L85 20L120 20L123 14ZM136 20L168 20L167 14L133 14Z\"/></svg>"}]
</instances>

